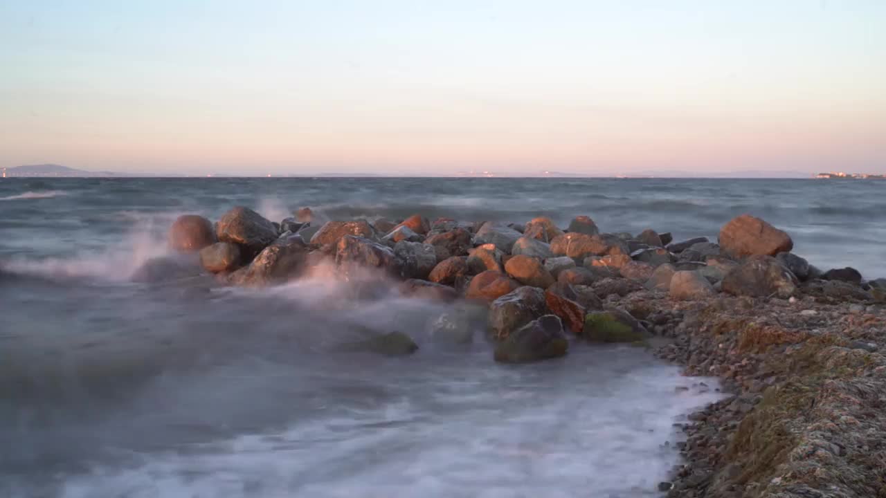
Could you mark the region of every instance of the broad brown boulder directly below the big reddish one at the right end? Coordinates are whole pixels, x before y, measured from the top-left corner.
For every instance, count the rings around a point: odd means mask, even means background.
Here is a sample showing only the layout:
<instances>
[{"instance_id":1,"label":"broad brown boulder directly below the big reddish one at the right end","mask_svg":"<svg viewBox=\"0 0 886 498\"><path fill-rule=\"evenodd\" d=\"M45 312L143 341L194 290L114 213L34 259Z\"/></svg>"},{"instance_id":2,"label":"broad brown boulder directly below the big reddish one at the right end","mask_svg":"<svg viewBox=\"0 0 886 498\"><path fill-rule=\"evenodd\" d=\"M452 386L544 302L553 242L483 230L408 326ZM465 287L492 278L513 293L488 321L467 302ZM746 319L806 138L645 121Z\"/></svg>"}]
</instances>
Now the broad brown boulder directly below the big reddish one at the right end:
<instances>
[{"instance_id":1,"label":"broad brown boulder directly below the big reddish one at the right end","mask_svg":"<svg viewBox=\"0 0 886 498\"><path fill-rule=\"evenodd\" d=\"M797 290L795 276L772 256L751 256L729 270L723 291L735 296L789 298Z\"/></svg>"}]
</instances>

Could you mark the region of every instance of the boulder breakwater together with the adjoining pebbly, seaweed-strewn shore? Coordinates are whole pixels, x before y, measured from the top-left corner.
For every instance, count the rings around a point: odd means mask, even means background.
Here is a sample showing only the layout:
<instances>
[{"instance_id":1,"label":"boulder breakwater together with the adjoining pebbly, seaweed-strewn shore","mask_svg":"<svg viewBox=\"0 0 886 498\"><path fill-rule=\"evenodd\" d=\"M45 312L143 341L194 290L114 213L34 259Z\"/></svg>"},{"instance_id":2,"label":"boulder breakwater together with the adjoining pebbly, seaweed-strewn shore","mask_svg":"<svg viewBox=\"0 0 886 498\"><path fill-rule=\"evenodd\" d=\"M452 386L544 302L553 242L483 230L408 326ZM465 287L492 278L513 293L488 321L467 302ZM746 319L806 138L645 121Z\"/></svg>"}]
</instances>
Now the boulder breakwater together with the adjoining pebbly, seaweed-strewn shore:
<instances>
[{"instance_id":1,"label":"boulder breakwater together with the adjoining pebbly, seaweed-strewn shore","mask_svg":"<svg viewBox=\"0 0 886 498\"><path fill-rule=\"evenodd\" d=\"M545 217L419 214L314 226L306 213L276 223L235 207L214 233L191 215L170 231L170 273L153 261L136 276L267 286L323 267L325 277L359 282L362 295L447 303L430 320L435 339L470 341L481 321L495 362L553 361L601 343L654 346L690 374L720 377L729 393L681 425L686 464L662 494L886 496L886 281L821 271L763 220L745 214L717 241L675 242L653 229L603 232L588 216L563 230ZM198 263L181 262L194 252ZM410 354L410 333L361 344Z\"/></svg>"}]
</instances>

